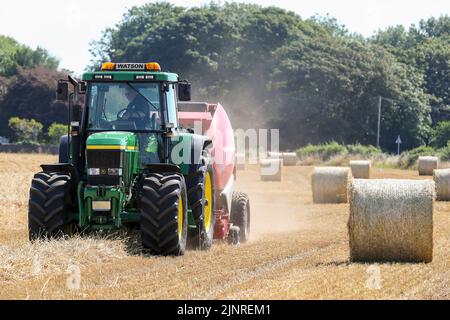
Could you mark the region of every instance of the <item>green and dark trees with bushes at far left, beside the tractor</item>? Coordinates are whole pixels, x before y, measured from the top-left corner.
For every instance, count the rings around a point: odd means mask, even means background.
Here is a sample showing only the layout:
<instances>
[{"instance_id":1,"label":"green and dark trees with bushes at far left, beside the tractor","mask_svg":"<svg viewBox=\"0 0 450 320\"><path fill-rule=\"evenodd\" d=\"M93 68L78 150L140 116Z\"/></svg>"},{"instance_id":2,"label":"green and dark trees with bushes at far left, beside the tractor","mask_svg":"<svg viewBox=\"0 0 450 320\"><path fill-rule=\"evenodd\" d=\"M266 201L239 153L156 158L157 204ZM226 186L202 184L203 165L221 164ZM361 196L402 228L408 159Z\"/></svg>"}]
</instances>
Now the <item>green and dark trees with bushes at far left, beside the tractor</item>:
<instances>
[{"instance_id":1,"label":"green and dark trees with bushes at far left, beside the tractor","mask_svg":"<svg viewBox=\"0 0 450 320\"><path fill-rule=\"evenodd\" d=\"M58 66L47 50L0 35L0 136L26 144L59 141L68 110L55 101L56 81L67 77Z\"/></svg>"}]
</instances>

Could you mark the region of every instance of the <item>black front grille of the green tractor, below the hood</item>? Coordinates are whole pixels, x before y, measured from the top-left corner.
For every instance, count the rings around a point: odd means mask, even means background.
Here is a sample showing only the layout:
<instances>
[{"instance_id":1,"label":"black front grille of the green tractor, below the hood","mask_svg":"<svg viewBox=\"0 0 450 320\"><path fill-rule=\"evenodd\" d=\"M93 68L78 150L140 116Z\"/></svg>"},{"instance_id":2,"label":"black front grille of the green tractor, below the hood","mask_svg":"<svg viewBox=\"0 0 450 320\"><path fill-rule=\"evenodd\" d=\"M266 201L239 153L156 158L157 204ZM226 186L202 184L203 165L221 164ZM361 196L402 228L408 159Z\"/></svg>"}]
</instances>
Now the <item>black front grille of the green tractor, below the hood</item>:
<instances>
[{"instance_id":1,"label":"black front grille of the green tractor, below the hood","mask_svg":"<svg viewBox=\"0 0 450 320\"><path fill-rule=\"evenodd\" d=\"M120 150L86 150L87 167L99 168L100 175L88 175L90 185L113 186L120 184L120 176L108 175L108 168L122 168L123 152Z\"/></svg>"}]
</instances>

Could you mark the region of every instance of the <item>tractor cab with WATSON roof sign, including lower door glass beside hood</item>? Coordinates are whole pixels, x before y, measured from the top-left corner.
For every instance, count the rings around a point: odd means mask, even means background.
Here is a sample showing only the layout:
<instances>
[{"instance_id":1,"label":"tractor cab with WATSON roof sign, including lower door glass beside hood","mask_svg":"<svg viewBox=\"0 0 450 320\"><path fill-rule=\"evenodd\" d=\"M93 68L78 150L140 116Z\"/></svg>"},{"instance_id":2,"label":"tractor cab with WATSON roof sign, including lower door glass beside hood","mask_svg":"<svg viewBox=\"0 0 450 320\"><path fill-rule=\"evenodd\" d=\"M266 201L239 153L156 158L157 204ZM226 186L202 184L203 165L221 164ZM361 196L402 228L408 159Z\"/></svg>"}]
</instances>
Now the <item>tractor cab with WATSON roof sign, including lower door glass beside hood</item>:
<instances>
[{"instance_id":1,"label":"tractor cab with WATSON roof sign, including lower door glass beside hood","mask_svg":"<svg viewBox=\"0 0 450 320\"><path fill-rule=\"evenodd\" d=\"M178 130L176 92L182 93L179 100L190 100L188 83L179 82L174 73L161 72L155 62L104 63L101 71L84 74L83 81L81 130L88 148L96 133L130 132L136 136L141 167L170 162L170 141L165 138Z\"/></svg>"}]
</instances>

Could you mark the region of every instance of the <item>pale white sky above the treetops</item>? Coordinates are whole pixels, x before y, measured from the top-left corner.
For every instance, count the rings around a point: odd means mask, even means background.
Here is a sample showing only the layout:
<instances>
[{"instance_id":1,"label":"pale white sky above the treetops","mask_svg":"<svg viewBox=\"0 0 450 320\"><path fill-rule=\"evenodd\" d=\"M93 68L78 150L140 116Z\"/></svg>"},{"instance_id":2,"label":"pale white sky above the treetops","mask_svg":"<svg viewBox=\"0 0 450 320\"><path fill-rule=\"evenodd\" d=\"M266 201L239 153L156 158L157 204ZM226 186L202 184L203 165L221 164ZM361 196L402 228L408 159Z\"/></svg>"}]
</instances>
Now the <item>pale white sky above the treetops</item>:
<instances>
[{"instance_id":1,"label":"pale white sky above the treetops","mask_svg":"<svg viewBox=\"0 0 450 320\"><path fill-rule=\"evenodd\" d=\"M0 5L0 34L32 48L41 46L60 59L60 67L81 74L91 60L89 43L114 27L128 8L149 0L8 0ZM182 6L206 4L205 0L170 0ZM216 1L218 2L218 1ZM418 23L421 19L450 15L450 0L241 0L275 5L298 13L338 19L351 32L370 36L391 25ZM187 4L189 3L189 4Z\"/></svg>"}]
</instances>

